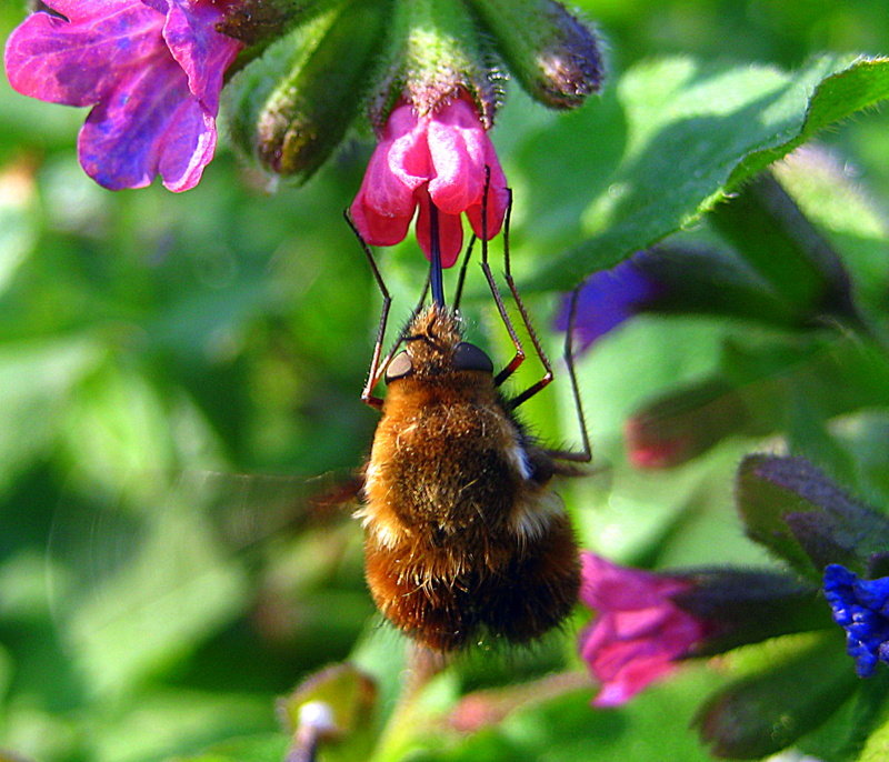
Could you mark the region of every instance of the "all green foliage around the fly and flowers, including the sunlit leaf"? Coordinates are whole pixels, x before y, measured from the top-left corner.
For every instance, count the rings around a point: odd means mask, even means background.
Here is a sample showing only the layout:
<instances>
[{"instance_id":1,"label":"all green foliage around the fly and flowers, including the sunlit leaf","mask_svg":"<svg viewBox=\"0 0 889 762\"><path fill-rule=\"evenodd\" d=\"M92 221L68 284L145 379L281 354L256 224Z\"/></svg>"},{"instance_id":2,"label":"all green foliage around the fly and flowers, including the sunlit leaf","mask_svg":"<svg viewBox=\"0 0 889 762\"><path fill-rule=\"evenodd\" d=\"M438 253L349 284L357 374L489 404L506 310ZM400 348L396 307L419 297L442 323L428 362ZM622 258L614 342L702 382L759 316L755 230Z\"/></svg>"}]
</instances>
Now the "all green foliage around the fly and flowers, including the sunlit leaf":
<instances>
[{"instance_id":1,"label":"all green foliage around the fly and flowers, including the sunlit leaf","mask_svg":"<svg viewBox=\"0 0 889 762\"><path fill-rule=\"evenodd\" d=\"M763 448L810 459L886 512L889 120L870 107L889 97L889 62L855 58L889 53L882 3L582 4L613 49L602 97L562 116L513 88L492 133L515 189L513 260L550 353L556 289L671 233L725 250L767 291L790 285L781 261L763 265L708 212L802 142L775 173L856 300L855 315L806 325L671 310L597 342L579 371L601 469L562 490L582 544L645 567L768 563L731 500L740 457ZM0 9L0 37L20 18ZM377 681L374 760L710 759L688 726L722 676L689 664L623 710L593 711L575 674L581 614L533 650L467 655L397 706L401 641L372 612L360 531L346 512L306 517L337 480L318 474L359 465L376 421L358 393L380 299L340 217L370 147L348 144L300 189L270 193L223 149L186 194L110 193L77 164L81 121L0 78L0 749L279 760L276 696L349 659ZM411 241L380 260L396 325L426 262ZM506 359L478 273L469 290L472 330ZM560 379L522 410L570 442ZM633 469L628 418L712 381L720 402L742 402L742 424L675 469ZM796 684L792 655L757 648L721 662L740 689L717 698L773 698L763 663ZM846 684L841 660L831 684ZM800 748L882 759L885 693L860 686ZM490 700L496 720L459 730L467 696ZM823 719L799 698L799 715Z\"/></svg>"}]
</instances>

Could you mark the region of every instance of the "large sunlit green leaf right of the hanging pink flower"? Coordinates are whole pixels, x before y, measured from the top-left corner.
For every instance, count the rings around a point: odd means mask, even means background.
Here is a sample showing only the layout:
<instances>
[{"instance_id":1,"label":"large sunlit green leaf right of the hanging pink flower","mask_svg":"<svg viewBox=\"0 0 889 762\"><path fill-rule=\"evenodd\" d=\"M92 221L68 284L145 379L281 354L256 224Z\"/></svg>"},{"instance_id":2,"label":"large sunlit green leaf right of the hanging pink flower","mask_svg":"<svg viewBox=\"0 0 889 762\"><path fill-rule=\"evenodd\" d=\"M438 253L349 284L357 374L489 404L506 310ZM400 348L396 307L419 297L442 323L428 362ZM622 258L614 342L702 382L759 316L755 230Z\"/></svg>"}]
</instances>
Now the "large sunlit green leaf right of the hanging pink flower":
<instances>
[{"instance_id":1,"label":"large sunlit green leaf right of the hanging pink flower","mask_svg":"<svg viewBox=\"0 0 889 762\"><path fill-rule=\"evenodd\" d=\"M586 215L592 237L546 259L521 288L566 290L693 224L818 130L887 97L885 59L827 56L792 73L689 59L637 64L606 96L613 106L591 104L573 124L620 152L610 174L587 179L601 189Z\"/></svg>"}]
</instances>

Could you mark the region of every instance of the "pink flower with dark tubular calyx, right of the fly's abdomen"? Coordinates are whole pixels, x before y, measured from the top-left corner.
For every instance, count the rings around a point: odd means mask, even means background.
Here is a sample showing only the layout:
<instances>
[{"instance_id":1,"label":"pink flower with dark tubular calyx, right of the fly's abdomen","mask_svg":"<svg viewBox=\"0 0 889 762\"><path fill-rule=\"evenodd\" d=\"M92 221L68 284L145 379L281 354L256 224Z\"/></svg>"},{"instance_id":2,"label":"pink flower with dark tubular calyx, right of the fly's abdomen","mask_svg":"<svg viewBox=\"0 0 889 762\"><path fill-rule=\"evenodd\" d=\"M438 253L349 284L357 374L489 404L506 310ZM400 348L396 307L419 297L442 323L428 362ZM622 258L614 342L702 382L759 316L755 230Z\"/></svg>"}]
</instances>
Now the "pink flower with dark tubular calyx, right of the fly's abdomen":
<instances>
[{"instance_id":1,"label":"pink flower with dark tubular calyx, right of the fly's abdomen","mask_svg":"<svg viewBox=\"0 0 889 762\"><path fill-rule=\"evenodd\" d=\"M597 706L629 701L693 656L832 626L818 588L746 569L673 573L618 567L581 554L580 600L596 611L581 656L601 692Z\"/></svg>"}]
</instances>

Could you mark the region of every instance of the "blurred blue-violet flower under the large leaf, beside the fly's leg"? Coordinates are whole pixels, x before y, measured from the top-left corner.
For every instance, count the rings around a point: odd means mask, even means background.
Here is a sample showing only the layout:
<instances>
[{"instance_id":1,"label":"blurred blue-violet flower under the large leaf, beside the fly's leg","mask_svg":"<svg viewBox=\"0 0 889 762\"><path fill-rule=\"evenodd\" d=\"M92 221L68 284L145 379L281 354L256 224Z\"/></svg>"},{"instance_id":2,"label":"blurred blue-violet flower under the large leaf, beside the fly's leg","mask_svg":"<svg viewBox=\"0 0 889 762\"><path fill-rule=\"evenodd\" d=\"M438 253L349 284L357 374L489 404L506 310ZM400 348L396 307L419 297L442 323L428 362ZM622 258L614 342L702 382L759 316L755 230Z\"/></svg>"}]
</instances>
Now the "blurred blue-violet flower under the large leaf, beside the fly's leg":
<instances>
[{"instance_id":1,"label":"blurred blue-violet flower under the large leaf, beside the fly's leg","mask_svg":"<svg viewBox=\"0 0 889 762\"><path fill-rule=\"evenodd\" d=\"M646 252L633 254L630 259L610 270L600 270L580 287L575 319L576 335L580 338L579 352L616 329L660 291L660 287L639 268L639 260ZM556 318L556 328L568 330L568 299Z\"/></svg>"}]
</instances>

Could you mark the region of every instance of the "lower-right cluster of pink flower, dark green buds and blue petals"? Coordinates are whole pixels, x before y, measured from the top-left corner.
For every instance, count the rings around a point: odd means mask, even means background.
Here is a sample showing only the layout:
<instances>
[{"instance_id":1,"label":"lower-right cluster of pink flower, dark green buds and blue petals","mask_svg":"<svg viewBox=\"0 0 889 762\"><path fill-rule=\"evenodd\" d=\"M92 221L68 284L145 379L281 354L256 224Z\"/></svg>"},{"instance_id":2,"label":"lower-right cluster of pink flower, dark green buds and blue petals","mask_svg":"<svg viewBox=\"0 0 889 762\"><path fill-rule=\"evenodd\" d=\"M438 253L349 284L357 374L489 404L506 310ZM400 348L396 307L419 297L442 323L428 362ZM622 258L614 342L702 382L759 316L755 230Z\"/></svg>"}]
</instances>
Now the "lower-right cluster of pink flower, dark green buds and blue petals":
<instances>
[{"instance_id":1,"label":"lower-right cluster of pink flower, dark green buds and blue petals","mask_svg":"<svg viewBox=\"0 0 889 762\"><path fill-rule=\"evenodd\" d=\"M613 706L683 660L808 633L790 641L797 651L789 645L717 692L696 719L717 755L759 759L823 723L855 690L855 672L869 678L889 664L889 576L875 573L887 568L889 519L800 458L748 457L736 494L748 534L795 573L656 573L586 554L581 600L595 616L580 653L600 683L593 704Z\"/></svg>"}]
</instances>

